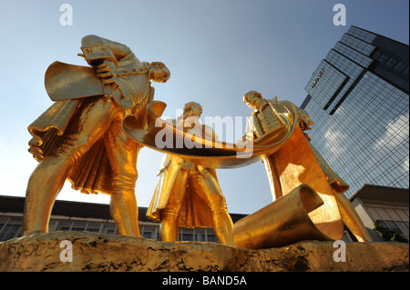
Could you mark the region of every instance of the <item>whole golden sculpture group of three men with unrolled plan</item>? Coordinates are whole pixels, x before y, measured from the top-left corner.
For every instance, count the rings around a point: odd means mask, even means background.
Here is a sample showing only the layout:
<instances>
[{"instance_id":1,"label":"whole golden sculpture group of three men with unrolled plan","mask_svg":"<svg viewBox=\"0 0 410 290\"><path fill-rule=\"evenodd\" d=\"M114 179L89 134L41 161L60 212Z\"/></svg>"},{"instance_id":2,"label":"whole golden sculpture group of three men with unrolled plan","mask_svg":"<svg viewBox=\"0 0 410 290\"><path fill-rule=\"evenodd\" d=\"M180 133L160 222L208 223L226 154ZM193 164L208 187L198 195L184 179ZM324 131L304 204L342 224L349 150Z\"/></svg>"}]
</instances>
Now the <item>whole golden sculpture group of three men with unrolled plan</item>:
<instances>
[{"instance_id":1,"label":"whole golden sculpture group of three men with unrolled plan","mask_svg":"<svg viewBox=\"0 0 410 290\"><path fill-rule=\"evenodd\" d=\"M165 154L147 212L160 223L161 241L177 241L179 226L211 226L222 244L265 248L342 239L343 224L358 241L371 241L343 195L348 185L304 132L313 121L302 109L250 91L243 96L252 109L244 135L235 145L220 142L210 126L200 124L198 103L185 104L176 119L160 119L166 105L154 101L150 81L167 82L166 65L140 62L128 46L97 35L85 36L81 45L79 55L89 66L50 65L45 82L54 103L28 126L29 152L39 164L26 189L23 235L48 231L56 196L68 179L83 193L110 195L118 234L139 236L137 159L147 146ZM159 146L161 130L206 146ZM243 153L248 157L240 158ZM216 168L257 160L265 165L273 203L233 225Z\"/></svg>"}]
</instances>

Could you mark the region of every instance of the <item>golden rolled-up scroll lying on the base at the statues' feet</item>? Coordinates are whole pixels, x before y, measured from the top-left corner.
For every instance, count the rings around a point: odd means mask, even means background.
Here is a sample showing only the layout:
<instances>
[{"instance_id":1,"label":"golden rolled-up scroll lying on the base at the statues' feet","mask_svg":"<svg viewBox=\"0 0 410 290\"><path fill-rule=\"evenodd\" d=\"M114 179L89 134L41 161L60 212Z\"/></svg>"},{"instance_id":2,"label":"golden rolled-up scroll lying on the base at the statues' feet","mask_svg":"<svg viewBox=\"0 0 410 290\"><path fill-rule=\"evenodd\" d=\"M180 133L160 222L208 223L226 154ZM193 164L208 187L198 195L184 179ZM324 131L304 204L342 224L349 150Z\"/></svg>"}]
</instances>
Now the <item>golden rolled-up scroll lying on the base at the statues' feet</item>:
<instances>
[{"instance_id":1,"label":"golden rolled-up scroll lying on the base at the statues' feet","mask_svg":"<svg viewBox=\"0 0 410 290\"><path fill-rule=\"evenodd\" d=\"M309 213L323 200L308 185L300 185L270 205L233 225L232 234L240 248L271 248L303 240L332 241L314 224Z\"/></svg>"}]
</instances>

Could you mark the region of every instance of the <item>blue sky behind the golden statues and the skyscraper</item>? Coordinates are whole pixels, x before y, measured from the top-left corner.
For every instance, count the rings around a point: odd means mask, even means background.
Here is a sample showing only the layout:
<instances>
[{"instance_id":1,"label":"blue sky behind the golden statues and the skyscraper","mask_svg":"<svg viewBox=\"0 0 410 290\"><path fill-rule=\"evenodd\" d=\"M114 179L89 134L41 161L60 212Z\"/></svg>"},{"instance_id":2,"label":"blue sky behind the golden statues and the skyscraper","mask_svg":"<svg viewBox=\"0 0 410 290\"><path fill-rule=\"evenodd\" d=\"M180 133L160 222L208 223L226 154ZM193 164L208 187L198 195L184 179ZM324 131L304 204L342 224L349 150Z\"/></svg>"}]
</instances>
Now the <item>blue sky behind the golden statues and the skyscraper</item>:
<instances>
[{"instance_id":1,"label":"blue sky behind the golden statues and the skyscraper","mask_svg":"<svg viewBox=\"0 0 410 290\"><path fill-rule=\"evenodd\" d=\"M65 3L72 25L60 24ZM333 25L335 4L345 5L346 25ZM165 63L169 82L153 83L155 98L168 104L164 115L175 117L196 101L203 116L245 117L251 111L241 97L250 90L301 105L313 71L350 25L408 45L408 6L408 0L1 0L0 195L25 196L37 164L26 127L52 104L46 68L56 60L87 65L77 57L84 35L128 45L141 61ZM148 148L139 154L139 206L149 206L162 156ZM217 173L231 213L251 214L272 202L261 162ZM109 202L69 182L57 199Z\"/></svg>"}]
</instances>

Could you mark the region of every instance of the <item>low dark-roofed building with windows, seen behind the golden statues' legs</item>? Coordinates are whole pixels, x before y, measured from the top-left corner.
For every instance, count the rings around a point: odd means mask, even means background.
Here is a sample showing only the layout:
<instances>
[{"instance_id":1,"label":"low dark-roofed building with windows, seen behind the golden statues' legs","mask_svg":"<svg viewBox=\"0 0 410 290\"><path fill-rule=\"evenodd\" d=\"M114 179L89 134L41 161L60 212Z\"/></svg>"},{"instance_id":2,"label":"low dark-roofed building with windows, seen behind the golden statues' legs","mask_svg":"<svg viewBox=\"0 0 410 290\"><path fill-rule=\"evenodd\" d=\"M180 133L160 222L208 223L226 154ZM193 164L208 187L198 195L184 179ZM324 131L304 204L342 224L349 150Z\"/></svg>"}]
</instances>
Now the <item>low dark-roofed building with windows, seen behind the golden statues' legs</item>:
<instances>
[{"instance_id":1,"label":"low dark-roofed building with windows, seen behind the golden statues' legs","mask_svg":"<svg viewBox=\"0 0 410 290\"><path fill-rule=\"evenodd\" d=\"M0 195L0 242L21 235L25 198ZM138 208L139 231L142 236L159 240L159 223L146 217L147 208ZM231 214L233 222L245 215ZM79 231L98 234L117 234L109 213L109 205L57 200L48 225L49 232ZM212 228L179 228L180 241L218 243Z\"/></svg>"}]
</instances>

